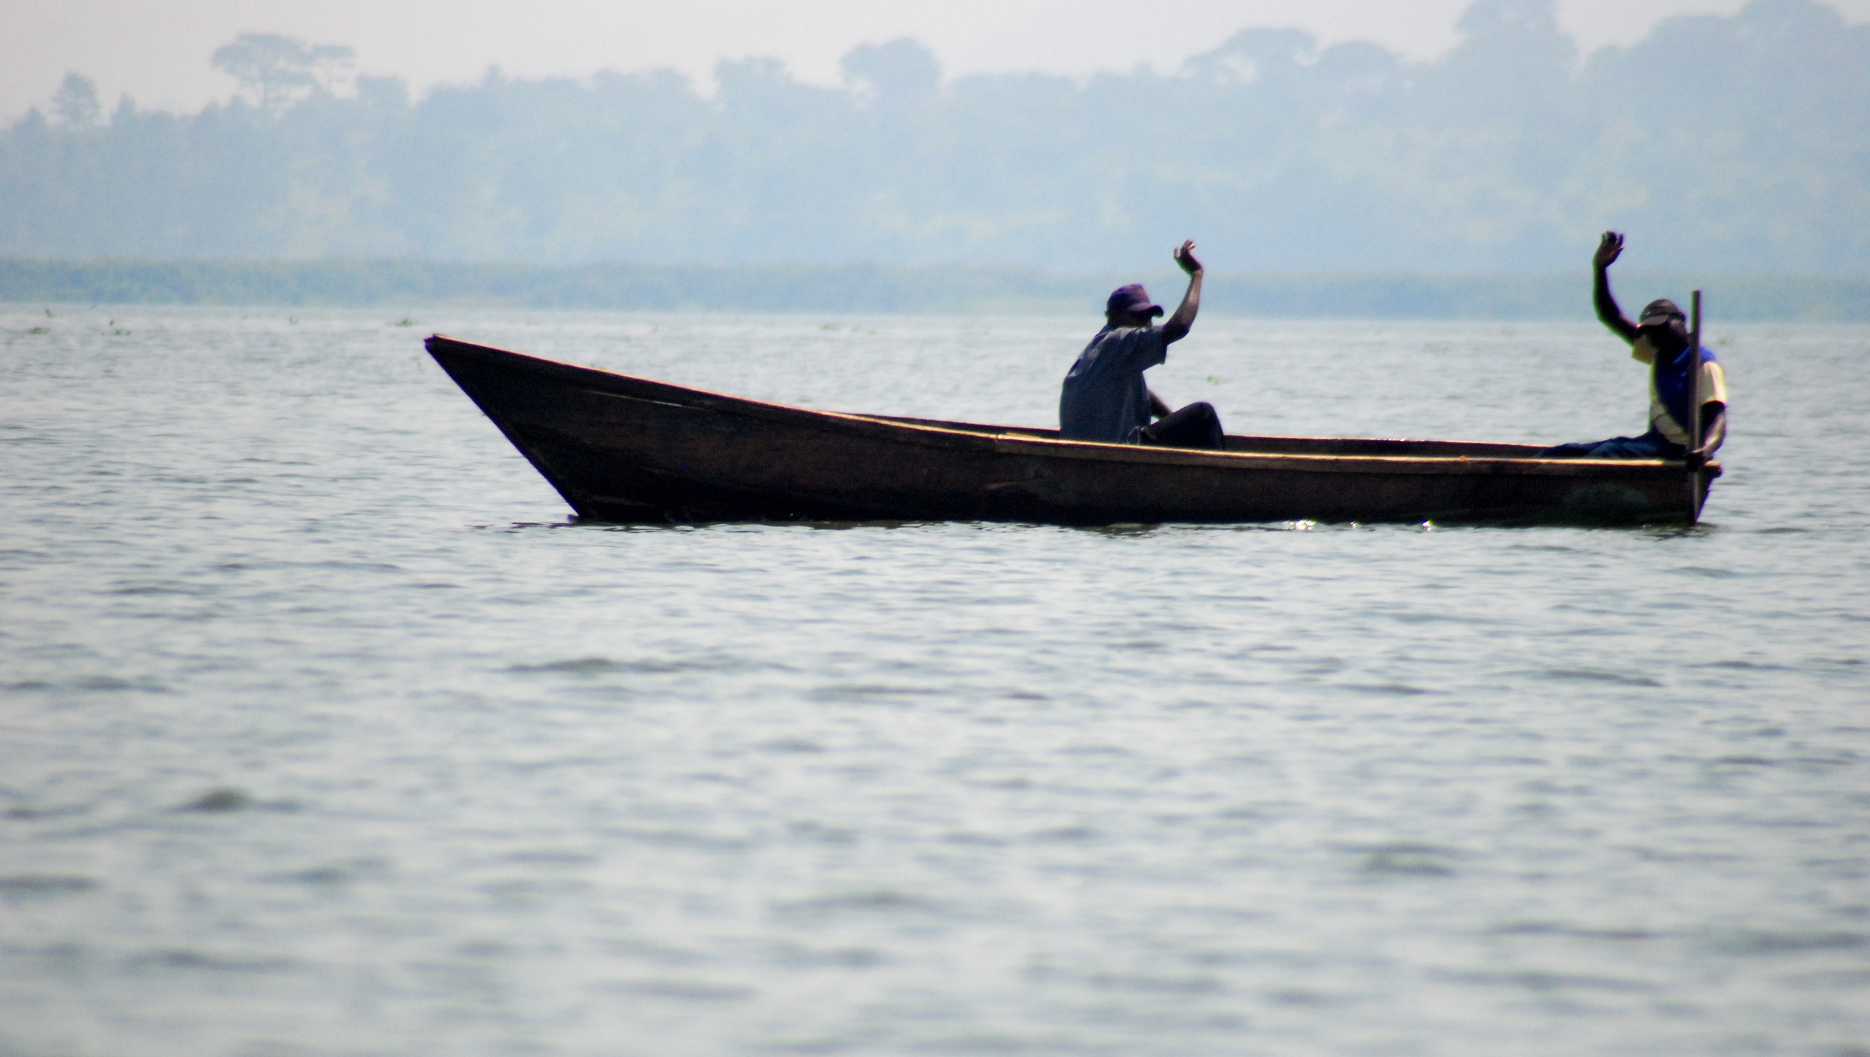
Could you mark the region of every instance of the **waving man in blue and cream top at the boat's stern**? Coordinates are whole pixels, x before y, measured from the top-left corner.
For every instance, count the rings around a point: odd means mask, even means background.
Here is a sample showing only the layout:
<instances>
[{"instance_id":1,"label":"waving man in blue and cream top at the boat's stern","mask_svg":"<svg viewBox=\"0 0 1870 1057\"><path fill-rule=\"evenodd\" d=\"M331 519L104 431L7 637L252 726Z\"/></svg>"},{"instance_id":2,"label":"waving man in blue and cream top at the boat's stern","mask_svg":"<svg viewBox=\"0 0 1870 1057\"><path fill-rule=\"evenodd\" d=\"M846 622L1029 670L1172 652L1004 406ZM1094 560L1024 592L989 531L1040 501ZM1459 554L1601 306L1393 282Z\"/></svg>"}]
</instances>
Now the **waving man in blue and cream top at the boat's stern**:
<instances>
[{"instance_id":1,"label":"waving man in blue and cream top at the boat's stern","mask_svg":"<svg viewBox=\"0 0 1870 1057\"><path fill-rule=\"evenodd\" d=\"M1649 301L1634 324L1618 309L1610 296L1610 264L1623 253L1623 236L1604 232L1591 264L1597 279L1591 301L1597 318L1618 337L1631 342L1631 357L1649 365L1649 432L1582 443L1561 443L1539 453L1541 458L1681 458L1689 470L1707 464L1715 449L1728 440L1728 380L1715 354L1702 348L1700 398L1702 436L1689 442L1690 404L1694 389L1694 348L1689 344L1689 324L1674 301Z\"/></svg>"}]
</instances>

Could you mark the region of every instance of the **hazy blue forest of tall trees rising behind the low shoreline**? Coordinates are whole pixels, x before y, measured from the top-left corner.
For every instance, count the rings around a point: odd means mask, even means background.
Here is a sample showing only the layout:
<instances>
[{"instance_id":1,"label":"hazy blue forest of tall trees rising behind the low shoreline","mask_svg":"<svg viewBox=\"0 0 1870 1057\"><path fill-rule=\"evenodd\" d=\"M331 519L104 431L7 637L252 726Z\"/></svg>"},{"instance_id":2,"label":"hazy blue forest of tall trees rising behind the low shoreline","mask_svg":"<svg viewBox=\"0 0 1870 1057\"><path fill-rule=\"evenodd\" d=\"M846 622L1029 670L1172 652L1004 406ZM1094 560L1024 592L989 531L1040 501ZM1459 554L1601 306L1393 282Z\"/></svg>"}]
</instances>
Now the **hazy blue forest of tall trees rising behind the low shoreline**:
<instances>
[{"instance_id":1,"label":"hazy blue forest of tall trees rising behind the low shoreline","mask_svg":"<svg viewBox=\"0 0 1870 1057\"><path fill-rule=\"evenodd\" d=\"M1814 0L1580 56L1481 0L1444 58L1247 30L1174 73L944 82L914 41L840 88L776 60L438 88L247 36L243 92L108 118L71 75L0 133L0 254L969 264L1101 271L1195 236L1253 271L1870 273L1870 28Z\"/></svg>"}]
</instances>

